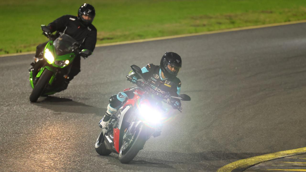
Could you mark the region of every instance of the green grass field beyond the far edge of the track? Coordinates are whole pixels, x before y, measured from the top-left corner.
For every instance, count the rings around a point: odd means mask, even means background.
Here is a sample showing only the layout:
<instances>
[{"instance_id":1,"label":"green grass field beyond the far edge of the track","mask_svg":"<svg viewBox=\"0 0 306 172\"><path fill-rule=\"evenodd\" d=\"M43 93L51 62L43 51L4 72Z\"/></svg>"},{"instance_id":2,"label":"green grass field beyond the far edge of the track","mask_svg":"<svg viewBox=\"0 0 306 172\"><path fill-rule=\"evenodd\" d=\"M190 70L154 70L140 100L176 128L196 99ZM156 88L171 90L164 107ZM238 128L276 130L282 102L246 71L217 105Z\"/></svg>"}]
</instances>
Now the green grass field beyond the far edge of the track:
<instances>
[{"instance_id":1,"label":"green grass field beyond the far edge of the track","mask_svg":"<svg viewBox=\"0 0 306 172\"><path fill-rule=\"evenodd\" d=\"M0 54L34 51L40 25L76 15L84 1L0 2ZM305 0L88 0L96 9L97 43L205 32L306 19Z\"/></svg>"}]
</instances>

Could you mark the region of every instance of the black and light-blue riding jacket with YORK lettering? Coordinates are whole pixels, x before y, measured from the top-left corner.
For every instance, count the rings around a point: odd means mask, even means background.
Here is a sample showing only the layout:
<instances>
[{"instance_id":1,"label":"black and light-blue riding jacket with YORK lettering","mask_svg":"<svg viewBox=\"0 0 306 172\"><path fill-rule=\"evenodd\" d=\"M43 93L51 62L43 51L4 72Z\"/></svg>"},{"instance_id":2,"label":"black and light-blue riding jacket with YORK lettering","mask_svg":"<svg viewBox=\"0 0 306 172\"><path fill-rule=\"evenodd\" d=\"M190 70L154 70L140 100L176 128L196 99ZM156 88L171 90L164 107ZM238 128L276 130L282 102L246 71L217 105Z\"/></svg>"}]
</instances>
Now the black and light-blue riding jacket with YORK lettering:
<instances>
[{"instance_id":1,"label":"black and light-blue riding jacket with YORK lettering","mask_svg":"<svg viewBox=\"0 0 306 172\"><path fill-rule=\"evenodd\" d=\"M143 77L145 80L151 80L150 91L164 96L168 92L171 96L178 97L181 91L181 80L177 77L172 79L162 78L161 69L159 65L147 64L141 69ZM129 76L136 75L134 72L130 72ZM139 78L138 78L139 79Z\"/></svg>"}]
</instances>

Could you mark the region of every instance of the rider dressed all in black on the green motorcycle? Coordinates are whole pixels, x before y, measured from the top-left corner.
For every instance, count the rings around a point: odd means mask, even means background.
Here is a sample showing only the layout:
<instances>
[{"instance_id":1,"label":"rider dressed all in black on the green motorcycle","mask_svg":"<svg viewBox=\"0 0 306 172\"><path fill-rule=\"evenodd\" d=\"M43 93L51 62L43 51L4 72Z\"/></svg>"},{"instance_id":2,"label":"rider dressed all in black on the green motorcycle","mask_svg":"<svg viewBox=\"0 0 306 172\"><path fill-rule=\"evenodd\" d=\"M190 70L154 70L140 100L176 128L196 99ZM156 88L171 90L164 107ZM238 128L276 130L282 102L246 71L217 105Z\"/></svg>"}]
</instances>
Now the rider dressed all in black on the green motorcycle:
<instances>
[{"instance_id":1,"label":"rider dressed all in black on the green motorcycle","mask_svg":"<svg viewBox=\"0 0 306 172\"><path fill-rule=\"evenodd\" d=\"M59 33L65 33L81 45L80 50L87 49L91 53L95 49L95 44L97 41L97 29L91 24L95 17L95 9L90 4L83 4L78 10L77 16L64 15L54 20L45 27L46 30L49 30L49 33L56 32L54 35L55 38L59 36ZM49 41L39 44L36 47L35 62L43 59L43 49ZM91 54L90 53L90 54ZM90 55L89 54L89 55ZM65 90L70 82L79 72L80 72L80 56L87 58L87 55L81 54L77 55L73 60L70 73L64 80L64 85L61 90ZM40 64L37 64L40 65Z\"/></svg>"}]
</instances>

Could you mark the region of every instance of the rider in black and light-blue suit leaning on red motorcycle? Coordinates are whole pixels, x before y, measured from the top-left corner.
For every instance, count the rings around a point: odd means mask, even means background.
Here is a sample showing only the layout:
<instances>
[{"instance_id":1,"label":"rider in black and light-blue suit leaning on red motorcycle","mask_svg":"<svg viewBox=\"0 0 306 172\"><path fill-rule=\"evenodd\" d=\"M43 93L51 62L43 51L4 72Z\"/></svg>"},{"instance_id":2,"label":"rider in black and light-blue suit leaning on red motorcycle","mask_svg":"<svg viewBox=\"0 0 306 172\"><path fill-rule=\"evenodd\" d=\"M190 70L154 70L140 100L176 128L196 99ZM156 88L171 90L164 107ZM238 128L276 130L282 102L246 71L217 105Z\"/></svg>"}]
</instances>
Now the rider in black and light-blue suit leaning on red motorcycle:
<instances>
[{"instance_id":1,"label":"rider in black and light-blue suit leaning on red motorcycle","mask_svg":"<svg viewBox=\"0 0 306 172\"><path fill-rule=\"evenodd\" d=\"M149 80L150 91L160 96L165 96L170 93L171 96L178 97L181 91L181 80L176 76L182 67L181 57L174 52L166 52L160 61L160 65L147 64L141 69L142 75L145 80ZM129 77L132 78L132 83L136 83L139 76L131 71ZM117 95L113 95L109 99L107 111L104 117L99 122L101 128L106 128L110 122L110 116L115 114L118 109L124 105L124 103L131 99L136 87L119 92ZM181 107L180 100L173 102L173 107Z\"/></svg>"}]
</instances>

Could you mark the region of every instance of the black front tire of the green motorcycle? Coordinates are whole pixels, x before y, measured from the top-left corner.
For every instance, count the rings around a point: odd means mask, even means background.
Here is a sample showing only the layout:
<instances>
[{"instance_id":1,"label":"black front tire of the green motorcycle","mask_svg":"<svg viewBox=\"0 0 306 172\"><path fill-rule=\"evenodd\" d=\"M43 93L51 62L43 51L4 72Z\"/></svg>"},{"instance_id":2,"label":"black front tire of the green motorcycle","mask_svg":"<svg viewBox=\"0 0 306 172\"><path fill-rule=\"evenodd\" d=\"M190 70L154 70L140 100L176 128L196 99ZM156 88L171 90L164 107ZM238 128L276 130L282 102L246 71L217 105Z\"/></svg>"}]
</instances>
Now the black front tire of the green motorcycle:
<instances>
[{"instance_id":1,"label":"black front tire of the green motorcycle","mask_svg":"<svg viewBox=\"0 0 306 172\"><path fill-rule=\"evenodd\" d=\"M32 93L30 95L30 101L36 102L39 96L43 93L43 90L45 89L46 85L48 84L49 80L51 79L53 75L53 72L45 69L41 76L39 77L37 83L35 84L35 87L32 90Z\"/></svg>"}]
</instances>

